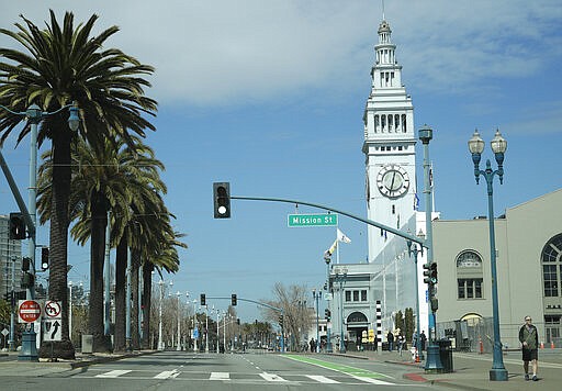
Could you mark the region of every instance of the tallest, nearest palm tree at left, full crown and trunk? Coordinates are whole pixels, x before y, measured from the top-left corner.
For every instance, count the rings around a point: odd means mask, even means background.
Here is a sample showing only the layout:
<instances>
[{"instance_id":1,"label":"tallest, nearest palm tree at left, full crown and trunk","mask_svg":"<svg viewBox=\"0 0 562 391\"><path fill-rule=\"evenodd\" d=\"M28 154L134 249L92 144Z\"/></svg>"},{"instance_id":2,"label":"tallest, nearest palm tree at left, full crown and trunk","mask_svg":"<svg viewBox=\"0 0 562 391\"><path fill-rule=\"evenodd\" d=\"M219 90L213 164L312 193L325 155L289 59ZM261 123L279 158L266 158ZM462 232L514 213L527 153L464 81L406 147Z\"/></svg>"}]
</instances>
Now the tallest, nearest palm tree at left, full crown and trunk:
<instances>
[{"instance_id":1,"label":"tallest, nearest palm tree at left, full crown and trunk","mask_svg":"<svg viewBox=\"0 0 562 391\"><path fill-rule=\"evenodd\" d=\"M131 145L131 133L144 136L155 130L143 115L154 115L157 103L145 97L149 82L143 78L154 68L140 64L116 48L103 49L104 43L119 29L112 26L92 36L98 16L94 14L75 27L74 14L66 12L60 25L50 11L50 23L41 30L22 16L16 31L0 29L0 33L23 46L19 52L0 48L0 104L13 111L25 111L31 103L54 112L69 101L80 107L81 124L78 133L69 130L67 113L47 118L40 130L40 145L52 141L53 186L50 212L49 299L63 301L63 342L54 344L55 357L74 358L75 350L68 335L67 247L68 201L70 197L70 156L74 139L83 138L91 146L105 138L119 136ZM0 144L20 118L0 113ZM130 133L131 132L131 133ZM21 141L29 127L21 131ZM43 346L45 347L45 346ZM41 356L50 351L40 349Z\"/></svg>"}]
</instances>

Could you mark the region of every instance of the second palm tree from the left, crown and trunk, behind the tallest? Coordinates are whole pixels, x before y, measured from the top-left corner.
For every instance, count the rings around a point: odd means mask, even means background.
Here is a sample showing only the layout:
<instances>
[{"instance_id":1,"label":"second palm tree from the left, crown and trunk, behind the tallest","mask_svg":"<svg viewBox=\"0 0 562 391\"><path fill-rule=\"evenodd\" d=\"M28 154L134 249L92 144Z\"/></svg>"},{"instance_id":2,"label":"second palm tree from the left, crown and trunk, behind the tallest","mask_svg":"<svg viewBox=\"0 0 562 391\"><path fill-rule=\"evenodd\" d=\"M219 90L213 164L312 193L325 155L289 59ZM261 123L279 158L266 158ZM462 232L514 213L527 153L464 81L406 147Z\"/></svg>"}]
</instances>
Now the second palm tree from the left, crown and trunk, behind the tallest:
<instances>
[{"instance_id":1,"label":"second palm tree from the left, crown and trunk, behind the tallest","mask_svg":"<svg viewBox=\"0 0 562 391\"><path fill-rule=\"evenodd\" d=\"M92 148L82 139L77 139L72 149L72 177L69 214L77 223L71 234L78 244L91 241L90 253L90 305L89 333L93 335L93 350L110 349L109 336L103 327L103 265L108 212L119 212L120 219L127 221L131 205L146 203L146 199L160 202L158 193L166 192L158 170L164 165L154 157L154 152L140 144L138 137L135 150L122 139L105 142L103 148ZM50 152L46 152L40 168L38 210L45 222L50 202ZM114 231L122 231L123 224L113 224Z\"/></svg>"}]
</instances>

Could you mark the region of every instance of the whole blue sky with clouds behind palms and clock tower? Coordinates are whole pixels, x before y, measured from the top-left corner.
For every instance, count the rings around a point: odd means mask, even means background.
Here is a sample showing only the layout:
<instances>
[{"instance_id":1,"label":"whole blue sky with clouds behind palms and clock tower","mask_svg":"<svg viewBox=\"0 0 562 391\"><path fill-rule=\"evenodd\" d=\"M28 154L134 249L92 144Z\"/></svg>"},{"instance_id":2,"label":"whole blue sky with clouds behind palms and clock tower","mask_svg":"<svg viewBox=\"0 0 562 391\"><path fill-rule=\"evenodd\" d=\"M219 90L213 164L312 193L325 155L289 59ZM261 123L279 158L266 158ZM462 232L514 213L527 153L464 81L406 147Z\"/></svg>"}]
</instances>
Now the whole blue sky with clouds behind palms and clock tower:
<instances>
[{"instance_id":1,"label":"whole blue sky with clouds behind palms and clock tower","mask_svg":"<svg viewBox=\"0 0 562 391\"><path fill-rule=\"evenodd\" d=\"M166 202L189 245L179 273L166 276L173 292L261 300L272 298L278 281L322 287L322 255L334 228L289 228L286 214L295 205L269 202L233 201L233 217L214 220L212 182L229 181L234 196L296 199L367 215L362 115L381 2L49 7L60 18L74 11L78 21L98 13L98 29L119 25L109 44L157 69L147 94L159 101L158 131L147 143L166 165ZM13 26L20 13L42 24L48 7L9 2L0 25ZM474 182L467 148L475 127L486 142L498 127L508 142L505 181L494 188L496 214L562 186L560 1L389 0L385 16L415 105L415 129L434 129L430 157L442 219L486 214L485 187ZM29 146L14 149L9 141L3 154L26 199ZM493 158L487 147L486 154ZM0 213L7 214L15 202L5 180L0 183ZM341 260L364 261L364 224L340 217L339 227L352 241L341 245ZM48 230L40 231L40 243L46 243ZM88 259L89 248L70 248L70 280L87 282ZM238 313L243 321L260 316L245 303Z\"/></svg>"}]
</instances>

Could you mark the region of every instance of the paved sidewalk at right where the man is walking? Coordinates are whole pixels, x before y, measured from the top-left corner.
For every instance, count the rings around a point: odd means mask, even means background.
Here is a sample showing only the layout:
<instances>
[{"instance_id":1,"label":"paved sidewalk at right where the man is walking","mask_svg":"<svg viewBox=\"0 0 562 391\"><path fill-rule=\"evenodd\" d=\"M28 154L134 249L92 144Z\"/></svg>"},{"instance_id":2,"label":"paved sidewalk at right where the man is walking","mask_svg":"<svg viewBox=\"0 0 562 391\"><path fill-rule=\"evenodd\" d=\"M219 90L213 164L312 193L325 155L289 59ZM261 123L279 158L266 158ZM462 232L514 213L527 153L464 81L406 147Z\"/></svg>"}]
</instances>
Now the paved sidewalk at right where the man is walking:
<instances>
[{"instance_id":1,"label":"paved sidewalk at right where the man is walking","mask_svg":"<svg viewBox=\"0 0 562 391\"><path fill-rule=\"evenodd\" d=\"M396 351L357 351L347 356L370 360L404 365L412 368L404 378L412 381L427 382L432 386L447 386L461 390L528 390L539 387L541 390L558 390L562 382L562 349L539 350L539 381L525 381L520 351L504 354L504 367L508 372L507 381L491 381L493 357L491 354L453 353L453 371L450 373L426 373L425 361L413 362L412 355ZM529 366L530 367L530 366ZM530 368L529 368L530 370Z\"/></svg>"}]
</instances>

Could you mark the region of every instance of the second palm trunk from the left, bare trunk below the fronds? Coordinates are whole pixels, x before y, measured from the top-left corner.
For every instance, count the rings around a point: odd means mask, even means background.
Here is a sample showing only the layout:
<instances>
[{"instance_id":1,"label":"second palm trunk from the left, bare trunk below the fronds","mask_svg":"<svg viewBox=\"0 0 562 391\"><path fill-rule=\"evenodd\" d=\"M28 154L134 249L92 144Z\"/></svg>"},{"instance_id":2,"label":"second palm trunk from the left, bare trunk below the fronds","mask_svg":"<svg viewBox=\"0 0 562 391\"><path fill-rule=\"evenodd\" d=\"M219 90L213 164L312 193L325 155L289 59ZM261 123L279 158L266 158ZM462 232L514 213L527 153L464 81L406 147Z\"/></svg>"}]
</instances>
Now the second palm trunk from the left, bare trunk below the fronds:
<instances>
[{"instance_id":1,"label":"second palm trunk from the left, bare trunk below the fronds","mask_svg":"<svg viewBox=\"0 0 562 391\"><path fill-rule=\"evenodd\" d=\"M108 201L103 196L92 194L91 213L88 328L93 336L93 351L109 351L110 346L103 325L103 264L105 260L105 228L108 226Z\"/></svg>"}]
</instances>

